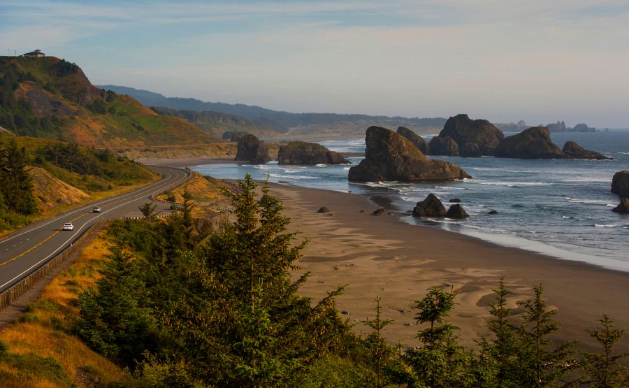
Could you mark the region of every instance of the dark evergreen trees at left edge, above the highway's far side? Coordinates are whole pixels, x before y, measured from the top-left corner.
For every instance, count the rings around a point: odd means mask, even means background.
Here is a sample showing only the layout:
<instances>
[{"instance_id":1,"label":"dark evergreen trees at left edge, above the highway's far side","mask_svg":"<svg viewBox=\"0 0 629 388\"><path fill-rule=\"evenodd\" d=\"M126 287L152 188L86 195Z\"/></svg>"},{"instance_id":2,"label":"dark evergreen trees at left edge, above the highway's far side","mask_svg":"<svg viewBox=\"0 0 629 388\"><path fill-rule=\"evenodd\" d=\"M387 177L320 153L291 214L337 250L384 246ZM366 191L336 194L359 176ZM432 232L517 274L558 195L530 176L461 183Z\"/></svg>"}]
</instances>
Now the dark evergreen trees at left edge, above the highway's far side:
<instances>
[{"instance_id":1,"label":"dark evergreen trees at left edge, above the highway's far side","mask_svg":"<svg viewBox=\"0 0 629 388\"><path fill-rule=\"evenodd\" d=\"M28 216L37 213L26 164L26 150L15 139L0 148L0 231L27 224Z\"/></svg>"}]
</instances>

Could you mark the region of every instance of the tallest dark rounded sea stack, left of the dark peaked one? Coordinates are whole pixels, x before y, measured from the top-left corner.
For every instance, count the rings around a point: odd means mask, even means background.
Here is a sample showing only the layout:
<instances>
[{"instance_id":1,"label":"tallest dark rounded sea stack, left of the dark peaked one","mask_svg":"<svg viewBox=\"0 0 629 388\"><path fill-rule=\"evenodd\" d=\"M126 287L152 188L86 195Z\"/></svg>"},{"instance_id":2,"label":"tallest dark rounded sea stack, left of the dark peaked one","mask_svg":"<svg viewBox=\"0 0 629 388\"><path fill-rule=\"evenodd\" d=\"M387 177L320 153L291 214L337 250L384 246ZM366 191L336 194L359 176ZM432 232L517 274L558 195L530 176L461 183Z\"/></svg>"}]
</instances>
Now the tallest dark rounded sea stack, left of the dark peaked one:
<instances>
[{"instance_id":1,"label":"tallest dark rounded sea stack, left of the dark peaked one","mask_svg":"<svg viewBox=\"0 0 629 388\"><path fill-rule=\"evenodd\" d=\"M468 115L461 114L450 117L439 136L437 136L437 138L445 137L451 138L456 143L458 155L462 157L479 157L482 155L493 155L494 150L496 150L500 141L505 138L505 135L503 131L500 131L487 120L472 120ZM429 148L431 155L453 155L451 153L438 153L442 150L433 150L431 141Z\"/></svg>"}]
</instances>

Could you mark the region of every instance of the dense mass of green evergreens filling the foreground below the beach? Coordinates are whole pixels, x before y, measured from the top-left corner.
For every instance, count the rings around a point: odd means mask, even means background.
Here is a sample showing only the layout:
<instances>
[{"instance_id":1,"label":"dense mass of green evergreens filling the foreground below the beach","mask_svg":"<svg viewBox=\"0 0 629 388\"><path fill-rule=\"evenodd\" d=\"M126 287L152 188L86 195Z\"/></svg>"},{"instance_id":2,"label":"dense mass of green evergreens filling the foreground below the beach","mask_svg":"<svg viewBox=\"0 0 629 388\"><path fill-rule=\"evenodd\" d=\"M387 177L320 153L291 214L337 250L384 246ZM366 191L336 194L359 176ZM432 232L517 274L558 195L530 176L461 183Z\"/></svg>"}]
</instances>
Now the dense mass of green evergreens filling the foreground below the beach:
<instances>
[{"instance_id":1,"label":"dense mass of green evergreens filling the foreground below the beach","mask_svg":"<svg viewBox=\"0 0 629 388\"><path fill-rule=\"evenodd\" d=\"M491 306L491 336L479 350L458 343L449 312L456 293L439 287L416 302L419 346L386 343L380 299L359 337L340 319L332 290L321 301L299 296L307 275L292 281L304 242L287 232L282 204L249 176L225 194L236 222L219 232L196 230L190 203L160 220L110 226L115 244L96 289L80 294L75 333L129 366L138 384L161 387L558 387L627 383L623 336L607 315L589 331L600 353L556 343L556 310L542 287L511 315L501 279Z\"/></svg>"}]
</instances>

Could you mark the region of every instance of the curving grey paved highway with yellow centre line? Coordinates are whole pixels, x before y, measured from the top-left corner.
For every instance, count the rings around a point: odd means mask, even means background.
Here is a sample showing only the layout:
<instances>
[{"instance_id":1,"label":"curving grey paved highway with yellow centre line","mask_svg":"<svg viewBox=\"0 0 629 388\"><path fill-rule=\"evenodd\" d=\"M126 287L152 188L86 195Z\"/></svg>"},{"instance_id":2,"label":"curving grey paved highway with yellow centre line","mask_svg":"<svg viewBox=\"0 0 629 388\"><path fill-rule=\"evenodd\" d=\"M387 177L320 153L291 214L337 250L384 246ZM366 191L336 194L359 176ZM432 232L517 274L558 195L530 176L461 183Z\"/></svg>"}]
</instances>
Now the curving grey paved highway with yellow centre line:
<instances>
[{"instance_id":1,"label":"curving grey paved highway with yellow centre line","mask_svg":"<svg viewBox=\"0 0 629 388\"><path fill-rule=\"evenodd\" d=\"M179 168L152 167L162 179L136 191L91 203L57 217L34 222L0 239L0 292L26 278L46 261L73 243L90 225L117 217L141 216L138 207L150 201L152 194L179 185L191 173ZM158 203L157 211L168 211L167 203ZM101 206L101 213L92 213ZM73 231L61 230L64 222L74 224Z\"/></svg>"}]
</instances>

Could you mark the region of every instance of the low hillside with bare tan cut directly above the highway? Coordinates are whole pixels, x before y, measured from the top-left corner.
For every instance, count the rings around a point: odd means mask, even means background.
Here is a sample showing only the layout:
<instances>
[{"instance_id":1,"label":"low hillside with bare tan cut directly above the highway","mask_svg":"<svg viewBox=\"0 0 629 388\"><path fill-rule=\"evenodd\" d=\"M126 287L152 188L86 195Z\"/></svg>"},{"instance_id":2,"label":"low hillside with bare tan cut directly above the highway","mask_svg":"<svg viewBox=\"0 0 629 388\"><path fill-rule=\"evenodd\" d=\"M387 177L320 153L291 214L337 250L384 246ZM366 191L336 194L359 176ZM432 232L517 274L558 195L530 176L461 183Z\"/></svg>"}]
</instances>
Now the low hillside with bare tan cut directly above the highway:
<instances>
[{"instance_id":1,"label":"low hillside with bare tan cut directly above the highway","mask_svg":"<svg viewBox=\"0 0 629 388\"><path fill-rule=\"evenodd\" d=\"M109 150L0 134L0 232L156 179Z\"/></svg>"}]
</instances>

